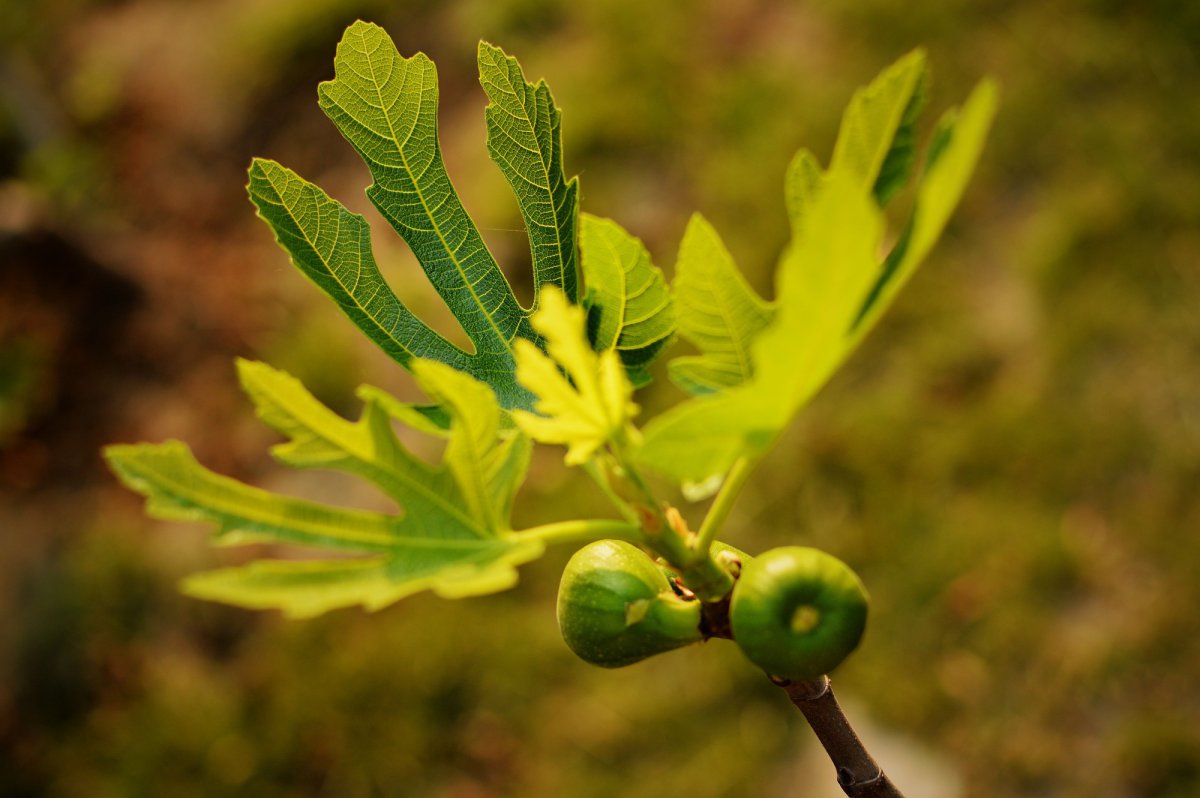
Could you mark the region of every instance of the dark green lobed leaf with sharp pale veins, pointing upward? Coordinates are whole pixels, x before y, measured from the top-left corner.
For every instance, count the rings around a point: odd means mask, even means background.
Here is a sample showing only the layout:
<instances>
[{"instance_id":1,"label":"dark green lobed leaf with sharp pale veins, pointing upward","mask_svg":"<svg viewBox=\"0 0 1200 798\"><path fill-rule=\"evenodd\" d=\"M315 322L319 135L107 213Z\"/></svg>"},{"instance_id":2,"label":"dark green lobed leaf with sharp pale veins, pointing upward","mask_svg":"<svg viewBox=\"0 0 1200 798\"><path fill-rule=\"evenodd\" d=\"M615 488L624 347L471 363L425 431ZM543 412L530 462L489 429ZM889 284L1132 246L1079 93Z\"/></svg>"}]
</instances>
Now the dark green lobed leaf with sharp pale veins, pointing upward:
<instances>
[{"instance_id":1,"label":"dark green lobed leaf with sharp pale veins, pointing upward","mask_svg":"<svg viewBox=\"0 0 1200 798\"><path fill-rule=\"evenodd\" d=\"M480 42L478 61L480 83L491 101L488 154L512 187L529 233L534 307L547 286L575 302L580 289L578 180L568 180L563 170L559 109L546 83L527 83L516 59L502 49ZM487 383L505 408L530 407L533 397L514 376L514 353L518 340L539 343L529 323L532 308L517 301L446 173L438 140L433 62L422 53L401 56L383 29L356 22L338 43L334 67L334 79L318 88L320 108L367 164L373 179L367 196L412 248L473 352L431 330L395 295L371 254L361 216L266 160L256 160L250 170L250 197L259 216L296 268L397 362L438 360ZM588 248L584 242L584 266ZM648 258L646 266L635 266L629 274L634 280L658 274ZM598 287L601 282L598 277ZM667 295L665 286L661 294ZM590 296L589 307L606 317L635 318L646 308L626 307L626 302L653 301L599 288ZM631 328L612 344L636 382L648 379L644 367L672 329L667 305L653 322Z\"/></svg>"}]
</instances>

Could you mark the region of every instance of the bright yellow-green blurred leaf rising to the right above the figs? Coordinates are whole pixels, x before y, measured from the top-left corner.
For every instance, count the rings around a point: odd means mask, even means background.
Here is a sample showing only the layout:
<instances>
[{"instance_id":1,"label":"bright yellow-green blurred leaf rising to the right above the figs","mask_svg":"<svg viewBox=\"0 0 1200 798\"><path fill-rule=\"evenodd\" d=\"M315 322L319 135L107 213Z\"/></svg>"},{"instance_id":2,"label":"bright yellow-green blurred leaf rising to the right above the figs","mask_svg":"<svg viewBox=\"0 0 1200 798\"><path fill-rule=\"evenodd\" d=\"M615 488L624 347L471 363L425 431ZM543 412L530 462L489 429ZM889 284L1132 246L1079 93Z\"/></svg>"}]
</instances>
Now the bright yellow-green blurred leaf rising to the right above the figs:
<instances>
[{"instance_id":1,"label":"bright yellow-green blurred leaf rising to the right above the figs","mask_svg":"<svg viewBox=\"0 0 1200 798\"><path fill-rule=\"evenodd\" d=\"M920 53L901 59L856 94L828 172L808 151L797 154L786 180L792 241L776 276L774 322L751 332L750 368L737 374L740 379L731 379L722 392L696 396L647 426L637 455L641 462L682 482L703 482L725 474L738 458L760 455L850 355L929 253L978 160L995 114L996 90L984 82L961 112L943 116L929 146L912 218L892 252L880 258L880 205L911 170L912 136L926 80ZM718 252L709 260L724 257ZM739 340L720 328L709 330L716 331L710 349L715 343L733 347Z\"/></svg>"}]
</instances>

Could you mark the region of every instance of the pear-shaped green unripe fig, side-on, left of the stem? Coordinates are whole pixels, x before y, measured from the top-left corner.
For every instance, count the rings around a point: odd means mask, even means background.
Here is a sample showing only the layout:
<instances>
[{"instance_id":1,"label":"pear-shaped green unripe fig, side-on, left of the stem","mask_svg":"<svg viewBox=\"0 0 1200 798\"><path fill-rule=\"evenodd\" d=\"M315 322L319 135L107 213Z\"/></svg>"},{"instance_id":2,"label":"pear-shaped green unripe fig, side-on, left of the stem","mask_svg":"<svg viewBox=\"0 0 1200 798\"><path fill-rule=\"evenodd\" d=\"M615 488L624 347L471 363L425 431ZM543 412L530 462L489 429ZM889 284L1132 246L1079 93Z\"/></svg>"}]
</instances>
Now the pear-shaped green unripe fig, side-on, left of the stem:
<instances>
[{"instance_id":1,"label":"pear-shaped green unripe fig, side-on, left of the stem","mask_svg":"<svg viewBox=\"0 0 1200 798\"><path fill-rule=\"evenodd\" d=\"M588 544L566 563L558 628L580 659L602 667L702 640L700 602L676 595L654 560L620 540Z\"/></svg>"}]
</instances>

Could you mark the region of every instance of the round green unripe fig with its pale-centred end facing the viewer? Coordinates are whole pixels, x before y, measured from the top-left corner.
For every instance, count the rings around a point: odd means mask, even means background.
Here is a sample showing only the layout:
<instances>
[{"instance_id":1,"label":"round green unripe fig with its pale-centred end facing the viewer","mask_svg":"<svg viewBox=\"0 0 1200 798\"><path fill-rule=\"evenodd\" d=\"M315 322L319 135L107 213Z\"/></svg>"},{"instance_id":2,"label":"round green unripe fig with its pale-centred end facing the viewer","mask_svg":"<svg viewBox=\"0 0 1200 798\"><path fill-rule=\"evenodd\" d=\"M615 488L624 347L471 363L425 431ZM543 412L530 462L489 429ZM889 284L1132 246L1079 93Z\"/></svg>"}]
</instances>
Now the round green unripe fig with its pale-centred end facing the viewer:
<instances>
[{"instance_id":1,"label":"round green unripe fig with its pale-centred end facing the viewer","mask_svg":"<svg viewBox=\"0 0 1200 798\"><path fill-rule=\"evenodd\" d=\"M816 548L773 548L745 563L730 606L733 640L772 676L815 679L854 648L866 590L850 566Z\"/></svg>"}]
</instances>

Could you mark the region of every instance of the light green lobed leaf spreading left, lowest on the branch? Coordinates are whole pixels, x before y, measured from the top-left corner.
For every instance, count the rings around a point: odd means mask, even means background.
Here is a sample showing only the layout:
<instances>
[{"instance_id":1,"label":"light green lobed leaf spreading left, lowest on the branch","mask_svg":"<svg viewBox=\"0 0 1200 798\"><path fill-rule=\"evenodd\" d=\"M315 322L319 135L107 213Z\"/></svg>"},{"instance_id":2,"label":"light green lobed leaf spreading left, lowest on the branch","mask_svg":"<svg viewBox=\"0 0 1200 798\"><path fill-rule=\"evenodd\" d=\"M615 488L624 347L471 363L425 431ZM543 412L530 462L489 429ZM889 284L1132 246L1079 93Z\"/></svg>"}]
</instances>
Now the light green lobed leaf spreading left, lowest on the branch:
<instances>
[{"instance_id":1,"label":"light green lobed leaf spreading left, lowest on the branch","mask_svg":"<svg viewBox=\"0 0 1200 798\"><path fill-rule=\"evenodd\" d=\"M150 515L216 523L222 544L287 544L342 556L199 574L185 589L200 598L308 616L350 605L373 610L426 589L463 596L510 587L515 566L542 553L540 542L511 533L508 517L528 467L529 442L504 428L486 385L434 361L414 360L413 368L449 416L446 449L436 466L406 450L391 427L392 419L404 416L438 430L424 414L386 406L378 391L365 389L362 416L350 422L284 372L239 362L260 418L288 438L275 448L276 457L368 479L403 509L400 516L244 485L208 470L178 442L110 446L106 456L122 481L146 497Z\"/></svg>"}]
</instances>

